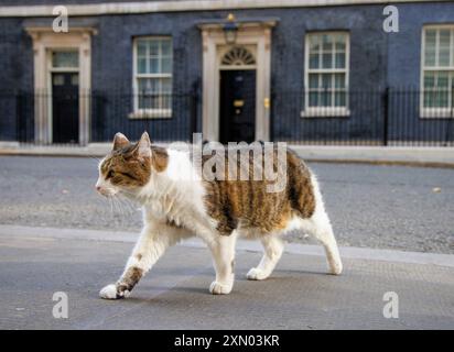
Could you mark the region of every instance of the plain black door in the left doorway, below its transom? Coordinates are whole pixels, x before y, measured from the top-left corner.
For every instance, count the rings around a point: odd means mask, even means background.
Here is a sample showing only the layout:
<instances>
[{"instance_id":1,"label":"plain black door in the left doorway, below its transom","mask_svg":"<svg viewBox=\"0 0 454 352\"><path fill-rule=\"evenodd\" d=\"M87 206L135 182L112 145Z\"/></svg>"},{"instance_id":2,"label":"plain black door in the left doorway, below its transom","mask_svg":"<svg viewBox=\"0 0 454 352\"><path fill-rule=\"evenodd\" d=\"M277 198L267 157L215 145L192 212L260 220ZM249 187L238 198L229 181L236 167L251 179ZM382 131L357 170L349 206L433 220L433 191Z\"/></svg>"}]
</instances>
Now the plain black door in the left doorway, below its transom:
<instances>
[{"instance_id":1,"label":"plain black door in the left doorway, below its transom","mask_svg":"<svg viewBox=\"0 0 454 352\"><path fill-rule=\"evenodd\" d=\"M79 84L78 74L52 74L52 141L78 143Z\"/></svg>"}]
</instances>

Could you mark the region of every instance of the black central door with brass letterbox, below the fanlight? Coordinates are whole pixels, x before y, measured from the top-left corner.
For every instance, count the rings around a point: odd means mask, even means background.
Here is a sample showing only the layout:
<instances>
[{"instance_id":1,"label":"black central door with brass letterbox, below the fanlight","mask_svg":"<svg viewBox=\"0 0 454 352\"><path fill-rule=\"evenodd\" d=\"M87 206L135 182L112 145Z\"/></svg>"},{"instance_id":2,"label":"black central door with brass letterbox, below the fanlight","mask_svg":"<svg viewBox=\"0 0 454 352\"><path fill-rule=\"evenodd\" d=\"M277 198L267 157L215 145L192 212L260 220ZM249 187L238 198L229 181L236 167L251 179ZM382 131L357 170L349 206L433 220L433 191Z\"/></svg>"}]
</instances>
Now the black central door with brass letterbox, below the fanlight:
<instances>
[{"instance_id":1,"label":"black central door with brass letterbox, below the fanlight","mask_svg":"<svg viewBox=\"0 0 454 352\"><path fill-rule=\"evenodd\" d=\"M252 142L256 136L256 70L221 70L219 141Z\"/></svg>"}]
</instances>

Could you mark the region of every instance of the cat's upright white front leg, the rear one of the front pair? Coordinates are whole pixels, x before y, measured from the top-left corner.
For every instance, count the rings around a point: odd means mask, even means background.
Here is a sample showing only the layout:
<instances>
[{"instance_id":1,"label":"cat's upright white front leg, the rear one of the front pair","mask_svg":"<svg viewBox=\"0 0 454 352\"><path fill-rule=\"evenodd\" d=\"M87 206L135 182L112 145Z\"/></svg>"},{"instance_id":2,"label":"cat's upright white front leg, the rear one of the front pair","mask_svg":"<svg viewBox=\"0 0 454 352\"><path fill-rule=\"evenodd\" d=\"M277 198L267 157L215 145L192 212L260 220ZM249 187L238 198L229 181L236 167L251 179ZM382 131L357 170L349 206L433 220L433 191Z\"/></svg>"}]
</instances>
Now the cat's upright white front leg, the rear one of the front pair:
<instances>
[{"instance_id":1,"label":"cat's upright white front leg, the rear one of the front pair","mask_svg":"<svg viewBox=\"0 0 454 352\"><path fill-rule=\"evenodd\" d=\"M228 295L234 287L236 239L236 231L230 235L216 234L214 241L208 244L216 270L216 279L209 285L213 295Z\"/></svg>"}]
</instances>

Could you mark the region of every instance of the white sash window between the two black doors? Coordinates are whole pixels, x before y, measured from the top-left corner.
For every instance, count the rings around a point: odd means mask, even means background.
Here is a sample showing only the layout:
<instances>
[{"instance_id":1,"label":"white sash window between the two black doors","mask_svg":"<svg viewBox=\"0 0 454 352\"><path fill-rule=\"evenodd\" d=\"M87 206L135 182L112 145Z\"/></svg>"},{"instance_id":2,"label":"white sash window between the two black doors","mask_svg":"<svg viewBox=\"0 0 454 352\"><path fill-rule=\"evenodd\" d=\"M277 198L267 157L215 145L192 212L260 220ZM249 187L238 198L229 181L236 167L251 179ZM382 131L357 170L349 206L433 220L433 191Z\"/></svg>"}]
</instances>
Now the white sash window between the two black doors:
<instances>
[{"instance_id":1,"label":"white sash window between the two black doors","mask_svg":"<svg viewBox=\"0 0 454 352\"><path fill-rule=\"evenodd\" d=\"M134 112L131 118L172 116L172 38L134 41Z\"/></svg>"}]
</instances>

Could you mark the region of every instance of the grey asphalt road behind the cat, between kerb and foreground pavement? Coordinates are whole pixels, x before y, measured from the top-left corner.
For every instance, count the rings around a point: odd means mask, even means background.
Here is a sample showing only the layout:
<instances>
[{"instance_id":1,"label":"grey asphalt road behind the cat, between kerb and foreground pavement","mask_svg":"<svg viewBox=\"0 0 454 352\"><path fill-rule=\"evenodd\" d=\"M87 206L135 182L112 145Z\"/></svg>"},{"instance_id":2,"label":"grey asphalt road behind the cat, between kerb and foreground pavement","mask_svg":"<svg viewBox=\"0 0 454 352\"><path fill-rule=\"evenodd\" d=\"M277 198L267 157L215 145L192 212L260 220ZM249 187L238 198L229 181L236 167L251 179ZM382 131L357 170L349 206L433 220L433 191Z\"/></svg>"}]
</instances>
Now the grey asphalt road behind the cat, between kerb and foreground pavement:
<instances>
[{"instance_id":1,"label":"grey asphalt road behind the cat, between kerb and foreground pavement","mask_svg":"<svg viewBox=\"0 0 454 352\"><path fill-rule=\"evenodd\" d=\"M340 245L454 254L453 169L310 166ZM96 178L93 158L1 156L0 223L139 231L138 208L98 196Z\"/></svg>"}]
</instances>

